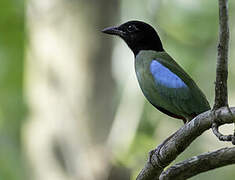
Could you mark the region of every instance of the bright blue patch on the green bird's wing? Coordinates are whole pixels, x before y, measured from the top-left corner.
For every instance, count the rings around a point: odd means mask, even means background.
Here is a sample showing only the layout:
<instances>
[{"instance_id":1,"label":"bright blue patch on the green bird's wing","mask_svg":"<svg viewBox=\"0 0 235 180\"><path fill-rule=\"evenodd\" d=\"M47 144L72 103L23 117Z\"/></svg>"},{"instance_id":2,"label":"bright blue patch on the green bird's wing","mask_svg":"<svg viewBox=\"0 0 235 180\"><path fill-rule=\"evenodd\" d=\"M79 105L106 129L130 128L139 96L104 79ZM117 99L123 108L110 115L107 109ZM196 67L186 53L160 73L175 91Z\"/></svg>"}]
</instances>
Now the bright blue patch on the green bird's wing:
<instances>
[{"instance_id":1,"label":"bright blue patch on the green bird's wing","mask_svg":"<svg viewBox=\"0 0 235 180\"><path fill-rule=\"evenodd\" d=\"M168 88L187 88L187 85L176 74L156 60L150 63L150 72L157 84Z\"/></svg>"}]
</instances>

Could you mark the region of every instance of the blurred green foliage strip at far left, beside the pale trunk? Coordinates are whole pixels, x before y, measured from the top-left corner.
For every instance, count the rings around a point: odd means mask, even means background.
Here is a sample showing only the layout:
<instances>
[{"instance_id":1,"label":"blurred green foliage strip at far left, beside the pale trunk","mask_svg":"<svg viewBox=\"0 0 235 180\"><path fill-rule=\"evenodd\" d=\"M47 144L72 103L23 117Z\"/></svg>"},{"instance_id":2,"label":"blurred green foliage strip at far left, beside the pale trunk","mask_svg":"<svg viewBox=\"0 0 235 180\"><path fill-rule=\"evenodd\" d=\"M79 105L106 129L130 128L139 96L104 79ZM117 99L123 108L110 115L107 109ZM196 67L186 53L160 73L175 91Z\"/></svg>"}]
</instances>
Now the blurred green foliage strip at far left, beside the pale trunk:
<instances>
[{"instance_id":1,"label":"blurred green foliage strip at far left, beside the pale trunk","mask_svg":"<svg viewBox=\"0 0 235 180\"><path fill-rule=\"evenodd\" d=\"M24 117L24 1L2 0L0 11L0 179L25 179L20 145Z\"/></svg>"}]
</instances>

